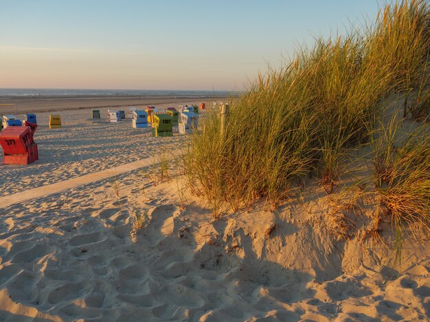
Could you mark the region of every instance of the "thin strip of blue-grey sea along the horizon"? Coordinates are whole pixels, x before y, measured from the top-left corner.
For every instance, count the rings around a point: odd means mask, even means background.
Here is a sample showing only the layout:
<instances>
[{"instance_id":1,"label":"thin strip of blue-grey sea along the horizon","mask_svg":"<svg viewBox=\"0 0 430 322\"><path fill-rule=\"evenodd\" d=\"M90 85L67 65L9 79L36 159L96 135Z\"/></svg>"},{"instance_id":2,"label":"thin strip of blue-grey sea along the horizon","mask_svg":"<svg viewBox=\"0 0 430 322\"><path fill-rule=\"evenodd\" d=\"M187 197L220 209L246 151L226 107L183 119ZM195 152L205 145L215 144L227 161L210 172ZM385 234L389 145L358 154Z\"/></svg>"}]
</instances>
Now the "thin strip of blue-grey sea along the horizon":
<instances>
[{"instance_id":1,"label":"thin strip of blue-grey sea along the horizon","mask_svg":"<svg viewBox=\"0 0 430 322\"><path fill-rule=\"evenodd\" d=\"M67 97L67 96L216 96L230 97L237 92L221 90L91 90L67 88L0 88L1 98L13 97Z\"/></svg>"}]
</instances>

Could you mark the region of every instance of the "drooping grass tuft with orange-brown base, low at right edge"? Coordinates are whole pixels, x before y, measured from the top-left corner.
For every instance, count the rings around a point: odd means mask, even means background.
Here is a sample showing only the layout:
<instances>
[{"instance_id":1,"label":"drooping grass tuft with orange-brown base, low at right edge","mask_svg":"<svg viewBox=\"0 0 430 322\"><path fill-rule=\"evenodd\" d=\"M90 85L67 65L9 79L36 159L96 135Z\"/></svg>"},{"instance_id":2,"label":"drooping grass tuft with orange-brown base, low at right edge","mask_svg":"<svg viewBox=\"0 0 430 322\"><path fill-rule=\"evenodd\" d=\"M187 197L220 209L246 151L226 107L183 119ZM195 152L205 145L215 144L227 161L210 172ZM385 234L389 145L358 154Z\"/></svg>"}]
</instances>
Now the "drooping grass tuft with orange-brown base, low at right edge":
<instances>
[{"instance_id":1,"label":"drooping grass tuft with orange-brown base, low at right edge","mask_svg":"<svg viewBox=\"0 0 430 322\"><path fill-rule=\"evenodd\" d=\"M430 234L430 130L421 125L403 133L393 117L387 125L379 125L374 136L374 193L381 207L376 213L381 219L375 221L392 223L396 261L400 261L407 234L416 239L421 232Z\"/></svg>"}]
</instances>

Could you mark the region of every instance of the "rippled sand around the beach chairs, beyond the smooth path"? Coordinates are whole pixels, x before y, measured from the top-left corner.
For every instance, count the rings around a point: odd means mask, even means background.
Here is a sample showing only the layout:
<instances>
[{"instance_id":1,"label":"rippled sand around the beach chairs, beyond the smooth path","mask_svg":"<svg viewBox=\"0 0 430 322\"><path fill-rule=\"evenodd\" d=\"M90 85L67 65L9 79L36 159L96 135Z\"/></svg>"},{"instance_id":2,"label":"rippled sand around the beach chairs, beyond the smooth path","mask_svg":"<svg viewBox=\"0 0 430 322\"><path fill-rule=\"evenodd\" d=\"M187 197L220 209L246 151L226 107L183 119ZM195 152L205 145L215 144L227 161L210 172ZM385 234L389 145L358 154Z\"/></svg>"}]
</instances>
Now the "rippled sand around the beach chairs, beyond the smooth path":
<instances>
[{"instance_id":1,"label":"rippled sand around the beach chairs, beyond the smooth path","mask_svg":"<svg viewBox=\"0 0 430 322\"><path fill-rule=\"evenodd\" d=\"M34 140L38 144L39 160L27 166L4 166L0 147L1 195L111 169L177 149L183 143L183 136L152 138L150 127L133 129L131 119L106 122L107 110L100 109L100 121L90 119L91 110L52 112L62 116L60 129L49 129L49 112L37 113ZM23 119L23 115L17 117Z\"/></svg>"}]
</instances>

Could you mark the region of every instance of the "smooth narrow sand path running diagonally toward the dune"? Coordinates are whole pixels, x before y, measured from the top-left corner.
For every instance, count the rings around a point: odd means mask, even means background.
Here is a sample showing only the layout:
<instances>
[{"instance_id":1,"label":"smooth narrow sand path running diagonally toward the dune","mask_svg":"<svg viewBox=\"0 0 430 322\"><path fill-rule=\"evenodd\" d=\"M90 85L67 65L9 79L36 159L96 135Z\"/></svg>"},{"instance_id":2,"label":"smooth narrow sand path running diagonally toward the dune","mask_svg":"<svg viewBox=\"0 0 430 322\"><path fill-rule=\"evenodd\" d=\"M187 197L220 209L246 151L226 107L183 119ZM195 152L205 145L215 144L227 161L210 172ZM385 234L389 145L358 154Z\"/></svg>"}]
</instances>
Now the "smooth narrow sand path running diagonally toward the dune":
<instances>
[{"instance_id":1,"label":"smooth narrow sand path running diagonally toward the dune","mask_svg":"<svg viewBox=\"0 0 430 322\"><path fill-rule=\"evenodd\" d=\"M170 156L179 155L180 150L172 151ZM15 193L14 195L7 195L5 197L0 197L0 209L7 208L16 203L22 203L31 199L37 199L41 197L47 197L53 195L54 193L59 193L61 191L77 188L78 186L83 186L84 184L91 184L92 182L98 182L102 179L107 179L109 177L115 177L121 173L128 171L133 171L136 169L143 168L144 166L149 166L150 164L155 164L158 161L158 156L152 156L150 158L138 160L135 162L130 162L127 164L122 164L120 166L115 166L111 169L106 169L98 171L95 173L90 173L89 175L82 175L80 177L74 177L62 182L57 182L55 184L48 184L47 186L41 186L38 188L25 190L21 193Z\"/></svg>"}]
</instances>

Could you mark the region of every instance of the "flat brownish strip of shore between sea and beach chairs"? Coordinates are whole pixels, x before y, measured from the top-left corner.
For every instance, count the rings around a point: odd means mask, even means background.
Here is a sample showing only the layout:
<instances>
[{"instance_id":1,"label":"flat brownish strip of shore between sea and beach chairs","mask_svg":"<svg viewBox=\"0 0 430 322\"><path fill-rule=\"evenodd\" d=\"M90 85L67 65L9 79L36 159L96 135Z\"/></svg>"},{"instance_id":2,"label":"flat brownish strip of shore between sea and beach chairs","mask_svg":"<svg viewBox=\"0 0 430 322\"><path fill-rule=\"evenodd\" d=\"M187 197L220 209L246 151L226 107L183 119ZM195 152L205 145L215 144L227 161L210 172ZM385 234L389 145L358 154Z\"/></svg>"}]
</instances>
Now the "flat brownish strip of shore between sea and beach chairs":
<instances>
[{"instance_id":1,"label":"flat brownish strip of shore between sea and beach chairs","mask_svg":"<svg viewBox=\"0 0 430 322\"><path fill-rule=\"evenodd\" d=\"M201 101L218 101L225 100L226 97L218 95L141 95L139 96L124 96L124 95L109 95L96 97L89 95L76 95L67 97L15 97L5 98L0 97L0 114L25 114L31 112L54 112L64 110L87 110L92 108L117 108L127 106L151 106L159 104L199 104ZM11 104L4 106L2 104ZM16 105L16 110L15 106Z\"/></svg>"}]
</instances>

